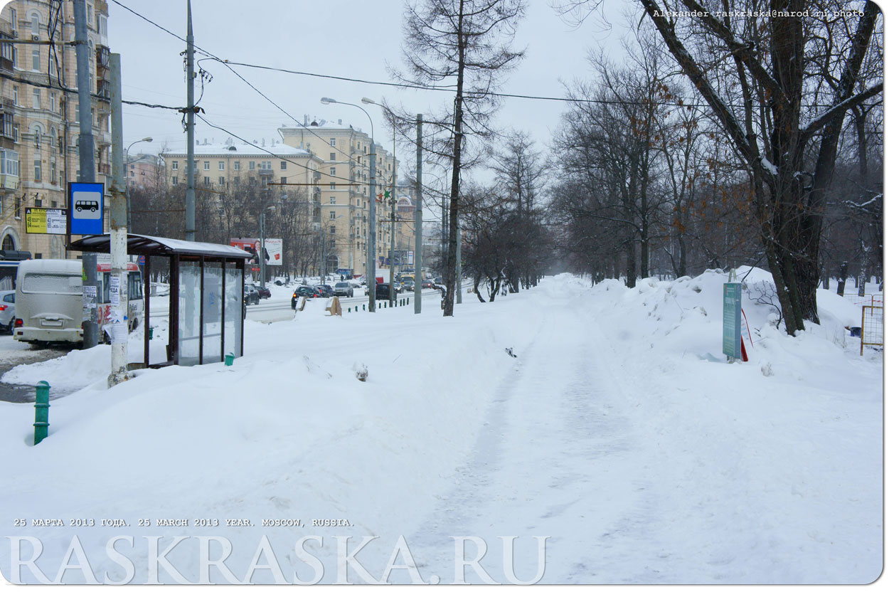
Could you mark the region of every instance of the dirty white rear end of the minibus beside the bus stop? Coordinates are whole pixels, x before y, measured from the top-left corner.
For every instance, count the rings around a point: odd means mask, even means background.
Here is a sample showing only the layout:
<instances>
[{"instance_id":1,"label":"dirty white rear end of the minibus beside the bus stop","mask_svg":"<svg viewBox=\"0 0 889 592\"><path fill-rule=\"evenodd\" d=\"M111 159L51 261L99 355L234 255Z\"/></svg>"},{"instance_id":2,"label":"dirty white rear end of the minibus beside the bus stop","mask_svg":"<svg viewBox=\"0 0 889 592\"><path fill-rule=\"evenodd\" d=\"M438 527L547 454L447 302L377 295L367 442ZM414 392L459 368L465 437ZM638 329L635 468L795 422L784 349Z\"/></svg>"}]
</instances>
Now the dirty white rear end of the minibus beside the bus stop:
<instances>
[{"instance_id":1,"label":"dirty white rear end of the minibus beside the bus stop","mask_svg":"<svg viewBox=\"0 0 889 592\"><path fill-rule=\"evenodd\" d=\"M83 341L83 265L75 259L21 261L15 280L19 341Z\"/></svg>"}]
</instances>

